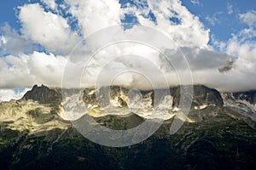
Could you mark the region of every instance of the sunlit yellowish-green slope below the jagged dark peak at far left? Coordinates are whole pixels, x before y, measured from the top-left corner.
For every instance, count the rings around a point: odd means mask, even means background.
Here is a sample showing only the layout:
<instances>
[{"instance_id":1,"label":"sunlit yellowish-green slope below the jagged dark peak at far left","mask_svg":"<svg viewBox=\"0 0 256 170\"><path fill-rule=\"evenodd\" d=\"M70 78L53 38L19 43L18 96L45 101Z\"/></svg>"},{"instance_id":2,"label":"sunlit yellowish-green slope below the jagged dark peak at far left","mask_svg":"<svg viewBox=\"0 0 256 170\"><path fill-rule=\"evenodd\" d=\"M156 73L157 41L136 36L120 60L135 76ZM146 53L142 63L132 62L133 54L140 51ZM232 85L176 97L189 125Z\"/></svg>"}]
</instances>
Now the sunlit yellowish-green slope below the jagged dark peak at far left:
<instances>
[{"instance_id":1,"label":"sunlit yellowish-green slope below the jagged dark peak at far left","mask_svg":"<svg viewBox=\"0 0 256 170\"><path fill-rule=\"evenodd\" d=\"M54 128L66 129L68 122L60 106L43 105L33 100L11 100L0 103L0 123L9 129L41 133Z\"/></svg>"}]
</instances>

